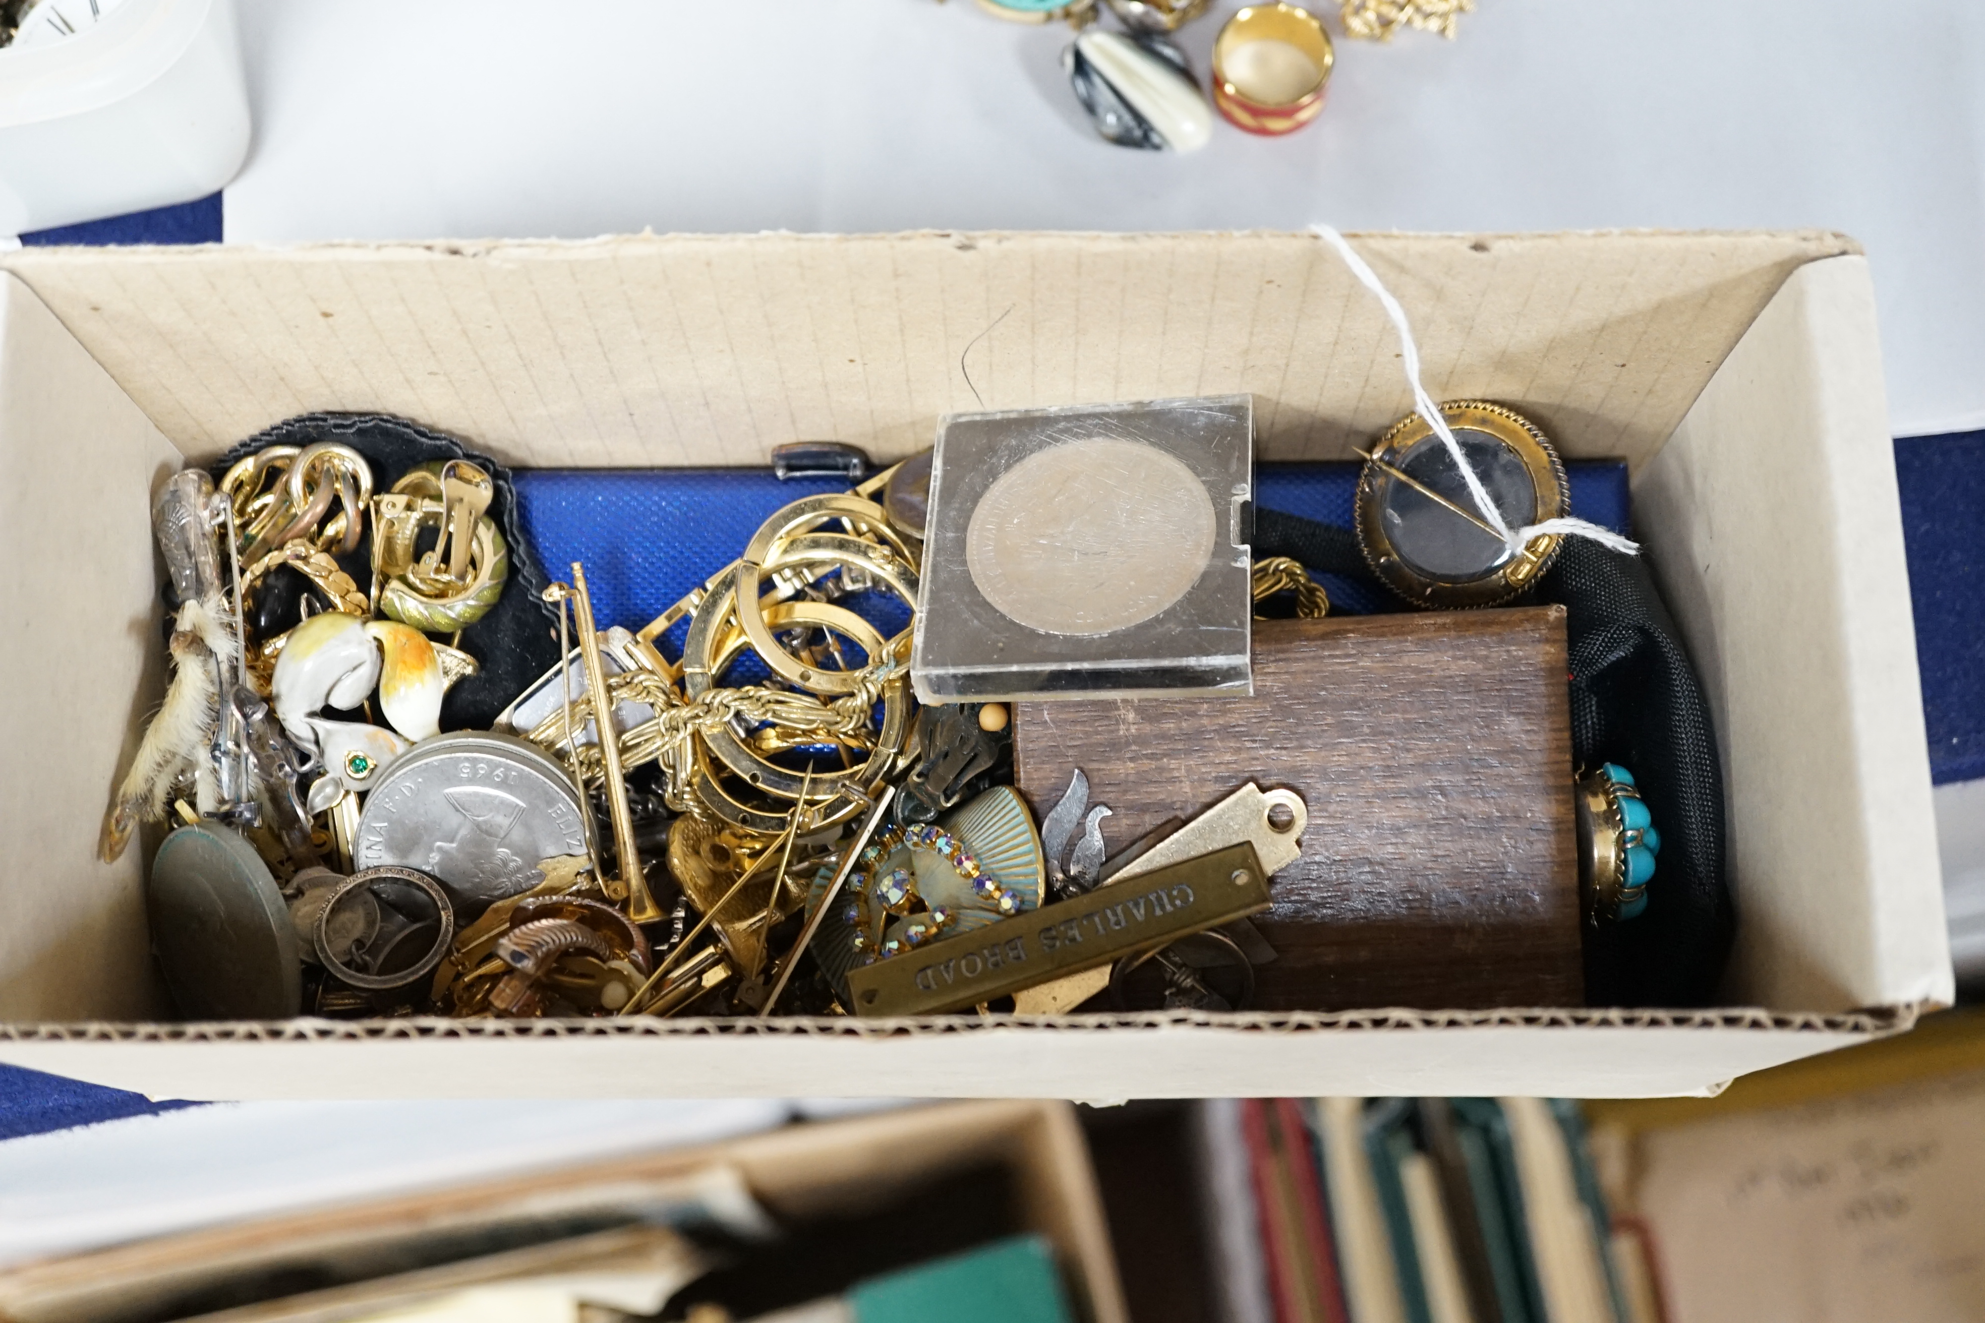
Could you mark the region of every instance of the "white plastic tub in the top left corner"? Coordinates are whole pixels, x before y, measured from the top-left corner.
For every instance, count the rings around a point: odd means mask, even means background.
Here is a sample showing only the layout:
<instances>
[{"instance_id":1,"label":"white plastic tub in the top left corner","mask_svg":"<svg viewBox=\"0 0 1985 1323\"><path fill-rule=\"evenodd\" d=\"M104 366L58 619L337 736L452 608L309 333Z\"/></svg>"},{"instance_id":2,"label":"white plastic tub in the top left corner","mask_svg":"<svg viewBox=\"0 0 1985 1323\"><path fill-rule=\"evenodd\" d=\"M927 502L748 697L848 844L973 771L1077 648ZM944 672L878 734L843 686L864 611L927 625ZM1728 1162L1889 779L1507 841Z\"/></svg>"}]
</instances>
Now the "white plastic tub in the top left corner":
<instances>
[{"instance_id":1,"label":"white plastic tub in the top left corner","mask_svg":"<svg viewBox=\"0 0 1985 1323\"><path fill-rule=\"evenodd\" d=\"M95 12L44 0L0 48L0 234L189 202L248 157L234 0Z\"/></svg>"}]
</instances>

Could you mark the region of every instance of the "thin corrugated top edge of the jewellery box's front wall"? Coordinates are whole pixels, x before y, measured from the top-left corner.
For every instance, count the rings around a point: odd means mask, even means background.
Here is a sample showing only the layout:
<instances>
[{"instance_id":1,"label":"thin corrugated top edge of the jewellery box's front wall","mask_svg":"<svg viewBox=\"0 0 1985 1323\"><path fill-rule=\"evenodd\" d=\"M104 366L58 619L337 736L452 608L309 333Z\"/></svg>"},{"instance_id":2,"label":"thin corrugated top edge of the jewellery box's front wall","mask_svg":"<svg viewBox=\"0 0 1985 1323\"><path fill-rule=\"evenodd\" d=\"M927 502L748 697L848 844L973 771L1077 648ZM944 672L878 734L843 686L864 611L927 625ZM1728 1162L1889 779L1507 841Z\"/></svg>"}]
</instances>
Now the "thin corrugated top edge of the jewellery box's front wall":
<instances>
[{"instance_id":1,"label":"thin corrugated top edge of the jewellery box's front wall","mask_svg":"<svg viewBox=\"0 0 1985 1323\"><path fill-rule=\"evenodd\" d=\"M1407 1008L1360 1012L1151 1012L1137 1016L913 1016L854 1020L848 1016L780 1016L776 1020L701 1018L653 1020L208 1020L195 1023L12 1023L0 1041L12 1043L314 1043L379 1039L520 1039L520 1037L812 1037L873 1041L957 1033L1125 1033L1159 1029L1221 1029L1227 1033L1362 1033L1393 1029L1751 1029L1777 1033L1900 1033L1933 1006L1878 1006L1848 1014L1785 1014L1737 1010L1572 1010L1499 1008L1425 1012Z\"/></svg>"}]
</instances>

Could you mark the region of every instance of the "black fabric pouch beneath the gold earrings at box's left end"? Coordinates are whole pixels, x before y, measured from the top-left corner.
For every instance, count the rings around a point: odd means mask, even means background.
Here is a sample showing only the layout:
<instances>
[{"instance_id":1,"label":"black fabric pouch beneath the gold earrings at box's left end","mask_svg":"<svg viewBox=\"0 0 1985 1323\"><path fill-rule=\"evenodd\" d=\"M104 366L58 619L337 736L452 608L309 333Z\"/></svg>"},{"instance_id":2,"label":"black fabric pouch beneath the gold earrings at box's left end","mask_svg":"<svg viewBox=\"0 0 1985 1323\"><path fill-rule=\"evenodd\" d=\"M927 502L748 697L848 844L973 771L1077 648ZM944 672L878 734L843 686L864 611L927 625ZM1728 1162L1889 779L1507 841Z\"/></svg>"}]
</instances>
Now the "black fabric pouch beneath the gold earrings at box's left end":
<instances>
[{"instance_id":1,"label":"black fabric pouch beneath the gold earrings at box's left end","mask_svg":"<svg viewBox=\"0 0 1985 1323\"><path fill-rule=\"evenodd\" d=\"M407 470L431 460L466 458L494 480L496 496L490 500L488 514L502 530L504 541L510 543L510 579L490 613L463 631L459 647L474 657L482 668L449 688L441 706L443 730L488 730L496 716L524 692L526 684L558 664L558 613L544 601L550 579L546 579L518 524L510 470L468 450L453 436L405 419L367 413L308 413L236 444L220 456L210 472L218 482L228 468L256 450L308 446L316 440L335 440L363 454L373 470L373 492L391 490ZM369 520L357 551L339 557L337 563L361 589L371 587ZM250 607L250 617L262 621L258 637L296 625L300 599L306 591L310 591L310 583L294 569L272 571Z\"/></svg>"}]
</instances>

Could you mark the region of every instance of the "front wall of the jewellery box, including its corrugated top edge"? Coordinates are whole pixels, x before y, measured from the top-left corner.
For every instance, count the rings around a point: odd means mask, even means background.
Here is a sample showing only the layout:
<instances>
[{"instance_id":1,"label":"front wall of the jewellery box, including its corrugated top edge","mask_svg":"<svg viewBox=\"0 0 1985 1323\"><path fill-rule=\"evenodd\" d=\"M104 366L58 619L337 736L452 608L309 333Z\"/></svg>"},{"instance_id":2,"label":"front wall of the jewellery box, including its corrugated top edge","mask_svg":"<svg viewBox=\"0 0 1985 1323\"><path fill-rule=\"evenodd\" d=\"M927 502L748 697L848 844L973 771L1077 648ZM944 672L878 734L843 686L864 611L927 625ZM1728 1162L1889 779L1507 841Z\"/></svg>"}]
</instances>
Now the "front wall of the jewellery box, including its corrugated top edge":
<instances>
[{"instance_id":1,"label":"front wall of the jewellery box, including its corrugated top edge","mask_svg":"<svg viewBox=\"0 0 1985 1323\"><path fill-rule=\"evenodd\" d=\"M1916 1010L44 1023L8 1029L0 1061L195 1099L1657 1097L1902 1031Z\"/></svg>"}]
</instances>

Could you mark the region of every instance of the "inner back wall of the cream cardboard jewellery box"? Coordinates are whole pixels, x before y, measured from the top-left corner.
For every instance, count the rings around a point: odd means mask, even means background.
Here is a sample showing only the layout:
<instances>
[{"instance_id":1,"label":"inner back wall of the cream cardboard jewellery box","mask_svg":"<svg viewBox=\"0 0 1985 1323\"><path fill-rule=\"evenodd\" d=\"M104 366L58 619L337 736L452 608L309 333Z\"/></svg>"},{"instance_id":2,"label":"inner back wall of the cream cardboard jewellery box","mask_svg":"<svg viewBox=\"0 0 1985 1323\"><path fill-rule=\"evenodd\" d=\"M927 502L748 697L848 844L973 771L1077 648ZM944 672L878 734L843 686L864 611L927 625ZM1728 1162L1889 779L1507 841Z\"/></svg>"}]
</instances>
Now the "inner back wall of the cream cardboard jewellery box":
<instances>
[{"instance_id":1,"label":"inner back wall of the cream cardboard jewellery box","mask_svg":"<svg viewBox=\"0 0 1985 1323\"><path fill-rule=\"evenodd\" d=\"M1356 240L1449 399L1521 403L1636 468L1794 268L1858 252L1818 230ZM955 411L1243 391L1262 460L1348 458L1411 409L1384 313L1308 234L24 248L0 270L195 462L320 409L568 468L816 438L901 458Z\"/></svg>"}]
</instances>

